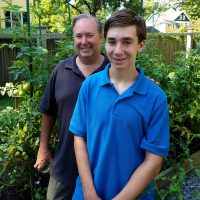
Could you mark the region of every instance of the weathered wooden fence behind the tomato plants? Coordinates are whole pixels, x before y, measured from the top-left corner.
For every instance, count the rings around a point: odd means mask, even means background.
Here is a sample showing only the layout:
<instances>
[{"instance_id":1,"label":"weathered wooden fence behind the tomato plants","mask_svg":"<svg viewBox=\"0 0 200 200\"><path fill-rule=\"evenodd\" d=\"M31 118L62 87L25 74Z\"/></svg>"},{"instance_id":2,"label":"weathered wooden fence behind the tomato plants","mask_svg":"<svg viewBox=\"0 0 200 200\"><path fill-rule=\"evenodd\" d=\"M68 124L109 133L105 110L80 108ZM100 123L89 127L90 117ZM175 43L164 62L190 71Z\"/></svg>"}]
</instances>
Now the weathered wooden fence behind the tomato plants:
<instances>
[{"instance_id":1,"label":"weathered wooden fence behind the tomato plants","mask_svg":"<svg viewBox=\"0 0 200 200\"><path fill-rule=\"evenodd\" d=\"M149 53L150 56L158 52L164 56L166 63L171 63L175 60L175 52L186 50L187 37L198 36L200 33L152 33L148 34L146 42L146 50L144 53ZM37 35L33 36L37 39ZM47 34L43 35L43 45L49 50L57 47L55 41L66 39L63 35ZM8 36L0 36L0 45L3 43L11 44L11 38ZM199 42L199 41L196 41ZM193 40L191 48L195 48L196 42ZM11 82L12 78L9 74L9 67L15 60L17 54L16 49L8 47L0 48L0 86L4 86L6 82Z\"/></svg>"}]
</instances>

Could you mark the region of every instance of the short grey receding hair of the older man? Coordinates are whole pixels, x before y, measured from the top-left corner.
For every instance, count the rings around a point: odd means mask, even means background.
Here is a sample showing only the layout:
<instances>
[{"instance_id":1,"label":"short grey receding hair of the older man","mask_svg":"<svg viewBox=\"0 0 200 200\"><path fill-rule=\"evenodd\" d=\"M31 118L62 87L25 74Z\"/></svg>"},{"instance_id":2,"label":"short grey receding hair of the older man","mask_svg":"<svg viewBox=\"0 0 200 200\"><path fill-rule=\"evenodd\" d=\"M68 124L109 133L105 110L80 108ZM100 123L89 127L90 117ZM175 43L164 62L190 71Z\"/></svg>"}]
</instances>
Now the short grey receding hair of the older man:
<instances>
[{"instance_id":1,"label":"short grey receding hair of the older man","mask_svg":"<svg viewBox=\"0 0 200 200\"><path fill-rule=\"evenodd\" d=\"M80 19L93 19L96 22L98 32L100 34L102 33L102 24L101 24L100 20L98 20L96 17L94 17L94 16L92 16L90 14L79 14L79 15L76 15L74 17L74 19L73 19L73 22L72 22L72 30L74 30L76 22L79 21Z\"/></svg>"}]
</instances>

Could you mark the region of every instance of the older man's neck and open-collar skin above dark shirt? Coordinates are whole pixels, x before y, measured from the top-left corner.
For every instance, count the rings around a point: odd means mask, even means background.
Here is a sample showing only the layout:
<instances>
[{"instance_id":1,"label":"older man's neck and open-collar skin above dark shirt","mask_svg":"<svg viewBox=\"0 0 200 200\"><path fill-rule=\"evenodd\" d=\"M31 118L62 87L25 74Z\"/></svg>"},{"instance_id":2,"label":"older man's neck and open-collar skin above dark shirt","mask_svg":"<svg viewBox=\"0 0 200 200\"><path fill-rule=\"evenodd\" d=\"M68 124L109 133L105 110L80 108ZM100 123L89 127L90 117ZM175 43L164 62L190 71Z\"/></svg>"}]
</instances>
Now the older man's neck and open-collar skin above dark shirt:
<instances>
[{"instance_id":1,"label":"older man's neck and open-collar skin above dark shirt","mask_svg":"<svg viewBox=\"0 0 200 200\"><path fill-rule=\"evenodd\" d=\"M85 77L88 77L96 71L103 64L103 61L104 56L101 54L99 54L96 59L82 59L79 56L76 57L76 64Z\"/></svg>"}]
</instances>

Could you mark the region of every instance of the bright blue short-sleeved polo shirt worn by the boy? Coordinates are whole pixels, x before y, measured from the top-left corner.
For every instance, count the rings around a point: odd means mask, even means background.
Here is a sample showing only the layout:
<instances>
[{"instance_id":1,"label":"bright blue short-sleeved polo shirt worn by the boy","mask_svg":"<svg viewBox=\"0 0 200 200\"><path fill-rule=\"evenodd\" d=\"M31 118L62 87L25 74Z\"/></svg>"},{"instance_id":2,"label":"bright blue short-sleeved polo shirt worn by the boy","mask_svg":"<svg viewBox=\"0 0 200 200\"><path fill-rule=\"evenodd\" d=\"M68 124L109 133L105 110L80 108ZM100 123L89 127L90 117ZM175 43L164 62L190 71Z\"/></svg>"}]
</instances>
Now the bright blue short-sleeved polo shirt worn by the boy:
<instances>
[{"instance_id":1,"label":"bright blue short-sleeved polo shirt worn by the boy","mask_svg":"<svg viewBox=\"0 0 200 200\"><path fill-rule=\"evenodd\" d=\"M145 151L166 156L169 148L167 98L161 88L145 77L121 95L105 70L86 79L69 130L84 137L97 194L103 200L115 197L144 161ZM81 200L80 177L73 199ZM141 199L155 199L151 183Z\"/></svg>"}]
</instances>

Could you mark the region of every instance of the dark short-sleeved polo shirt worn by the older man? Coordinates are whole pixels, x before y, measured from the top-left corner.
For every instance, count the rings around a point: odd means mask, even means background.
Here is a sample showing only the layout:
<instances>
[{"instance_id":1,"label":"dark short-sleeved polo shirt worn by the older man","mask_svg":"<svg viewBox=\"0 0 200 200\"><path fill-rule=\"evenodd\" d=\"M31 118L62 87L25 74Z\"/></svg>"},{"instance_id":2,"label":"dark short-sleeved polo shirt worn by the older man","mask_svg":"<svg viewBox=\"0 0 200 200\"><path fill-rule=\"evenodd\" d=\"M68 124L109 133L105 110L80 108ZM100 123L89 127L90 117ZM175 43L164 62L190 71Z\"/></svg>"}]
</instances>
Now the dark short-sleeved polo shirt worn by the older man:
<instances>
[{"instance_id":1,"label":"dark short-sleeved polo shirt worn by the older man","mask_svg":"<svg viewBox=\"0 0 200 200\"><path fill-rule=\"evenodd\" d=\"M103 70L109 63L108 58L104 57L104 62L97 71ZM73 134L68 131L68 127L84 80L85 77L76 65L76 56L61 61L53 70L39 105L41 113L56 116L59 122L59 141L51 175L72 187L75 187L78 170Z\"/></svg>"}]
</instances>

